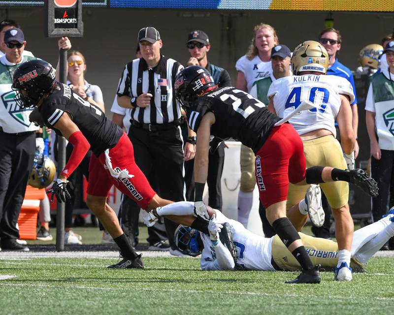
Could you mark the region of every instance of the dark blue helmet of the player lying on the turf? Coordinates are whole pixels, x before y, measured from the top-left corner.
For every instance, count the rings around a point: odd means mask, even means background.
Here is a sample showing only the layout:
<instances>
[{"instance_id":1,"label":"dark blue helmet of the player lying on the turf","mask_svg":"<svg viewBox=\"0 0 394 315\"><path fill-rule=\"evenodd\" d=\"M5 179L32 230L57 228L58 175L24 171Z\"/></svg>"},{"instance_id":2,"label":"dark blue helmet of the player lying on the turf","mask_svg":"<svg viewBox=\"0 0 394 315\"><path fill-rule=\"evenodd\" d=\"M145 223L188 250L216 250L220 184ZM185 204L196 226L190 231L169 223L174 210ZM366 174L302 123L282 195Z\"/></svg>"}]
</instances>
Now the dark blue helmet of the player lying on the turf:
<instances>
[{"instance_id":1,"label":"dark blue helmet of the player lying on the turf","mask_svg":"<svg viewBox=\"0 0 394 315\"><path fill-rule=\"evenodd\" d=\"M199 237L199 232L196 229L179 225L174 234L174 242L179 252L198 256L202 252Z\"/></svg>"}]
</instances>

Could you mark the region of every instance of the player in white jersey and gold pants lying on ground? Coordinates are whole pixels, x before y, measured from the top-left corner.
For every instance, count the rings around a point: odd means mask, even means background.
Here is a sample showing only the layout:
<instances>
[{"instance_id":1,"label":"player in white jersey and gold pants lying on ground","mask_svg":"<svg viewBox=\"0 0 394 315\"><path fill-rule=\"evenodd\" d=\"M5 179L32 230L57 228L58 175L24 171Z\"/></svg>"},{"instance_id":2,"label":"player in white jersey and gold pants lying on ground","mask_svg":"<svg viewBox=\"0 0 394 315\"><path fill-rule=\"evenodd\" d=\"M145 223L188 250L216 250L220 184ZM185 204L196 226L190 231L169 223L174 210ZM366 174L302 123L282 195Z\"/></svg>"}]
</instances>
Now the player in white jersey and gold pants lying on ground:
<instances>
[{"instance_id":1,"label":"player in white jersey and gold pants lying on ground","mask_svg":"<svg viewBox=\"0 0 394 315\"><path fill-rule=\"evenodd\" d=\"M294 271L301 266L278 235L264 238L248 231L240 222L208 208L208 233L179 225L175 243L179 251L197 256L201 253L203 270L267 270ZM159 216L182 216L183 220L196 220L193 202L181 201L157 208L145 218L152 225ZM338 262L338 244L323 238L298 233L308 256L316 265L334 269ZM369 258L394 236L394 208L379 221L366 225L353 234L351 266L362 271Z\"/></svg>"}]
</instances>

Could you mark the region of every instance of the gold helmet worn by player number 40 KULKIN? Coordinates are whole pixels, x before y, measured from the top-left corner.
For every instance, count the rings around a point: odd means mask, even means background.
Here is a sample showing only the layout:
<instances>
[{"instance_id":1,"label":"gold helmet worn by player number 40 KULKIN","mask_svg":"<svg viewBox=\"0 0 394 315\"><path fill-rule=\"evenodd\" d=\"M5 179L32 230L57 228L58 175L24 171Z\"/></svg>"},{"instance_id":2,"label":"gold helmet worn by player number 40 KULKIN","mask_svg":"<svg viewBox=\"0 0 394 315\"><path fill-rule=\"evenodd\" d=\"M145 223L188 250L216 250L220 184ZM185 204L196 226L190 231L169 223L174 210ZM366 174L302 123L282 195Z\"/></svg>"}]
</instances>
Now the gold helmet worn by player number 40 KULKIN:
<instances>
[{"instance_id":1,"label":"gold helmet worn by player number 40 KULKIN","mask_svg":"<svg viewBox=\"0 0 394 315\"><path fill-rule=\"evenodd\" d=\"M326 48L319 42L307 40L299 44L293 52L292 69L296 75L301 71L327 73L329 57Z\"/></svg>"}]
</instances>

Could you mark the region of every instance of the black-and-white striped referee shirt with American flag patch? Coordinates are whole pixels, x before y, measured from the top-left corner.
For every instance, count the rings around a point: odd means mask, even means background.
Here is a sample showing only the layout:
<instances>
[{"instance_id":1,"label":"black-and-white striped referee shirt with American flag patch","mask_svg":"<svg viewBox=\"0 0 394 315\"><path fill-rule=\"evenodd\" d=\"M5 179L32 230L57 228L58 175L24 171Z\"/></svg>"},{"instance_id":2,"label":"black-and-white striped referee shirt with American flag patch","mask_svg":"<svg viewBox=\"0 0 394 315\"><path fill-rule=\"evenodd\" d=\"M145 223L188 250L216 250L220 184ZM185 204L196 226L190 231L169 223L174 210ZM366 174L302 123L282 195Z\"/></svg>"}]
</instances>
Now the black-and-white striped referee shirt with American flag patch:
<instances>
[{"instance_id":1,"label":"black-and-white striped referee shirt with American flag patch","mask_svg":"<svg viewBox=\"0 0 394 315\"><path fill-rule=\"evenodd\" d=\"M143 58L126 64L117 95L138 97L153 95L148 107L131 110L131 120L144 124L165 124L181 118L181 107L175 99L175 77L183 69L177 61L161 55L159 64L149 68Z\"/></svg>"}]
</instances>

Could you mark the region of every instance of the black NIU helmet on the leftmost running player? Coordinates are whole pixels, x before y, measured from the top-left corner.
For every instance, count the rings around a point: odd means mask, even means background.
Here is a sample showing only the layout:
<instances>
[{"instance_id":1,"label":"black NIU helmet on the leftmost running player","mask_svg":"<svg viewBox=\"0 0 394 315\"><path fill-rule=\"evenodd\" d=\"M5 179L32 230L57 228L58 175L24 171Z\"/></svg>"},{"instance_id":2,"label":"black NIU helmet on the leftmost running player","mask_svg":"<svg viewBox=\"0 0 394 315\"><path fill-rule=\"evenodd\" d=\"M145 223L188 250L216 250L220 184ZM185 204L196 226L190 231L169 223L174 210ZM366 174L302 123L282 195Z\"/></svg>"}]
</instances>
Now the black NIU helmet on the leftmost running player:
<instances>
[{"instance_id":1,"label":"black NIU helmet on the leftmost running player","mask_svg":"<svg viewBox=\"0 0 394 315\"><path fill-rule=\"evenodd\" d=\"M34 107L42 95L50 92L55 84L55 69L50 63L41 59L22 63L14 73L14 99L22 108Z\"/></svg>"}]
</instances>

